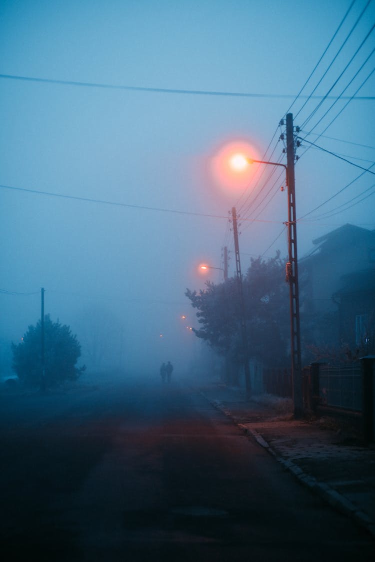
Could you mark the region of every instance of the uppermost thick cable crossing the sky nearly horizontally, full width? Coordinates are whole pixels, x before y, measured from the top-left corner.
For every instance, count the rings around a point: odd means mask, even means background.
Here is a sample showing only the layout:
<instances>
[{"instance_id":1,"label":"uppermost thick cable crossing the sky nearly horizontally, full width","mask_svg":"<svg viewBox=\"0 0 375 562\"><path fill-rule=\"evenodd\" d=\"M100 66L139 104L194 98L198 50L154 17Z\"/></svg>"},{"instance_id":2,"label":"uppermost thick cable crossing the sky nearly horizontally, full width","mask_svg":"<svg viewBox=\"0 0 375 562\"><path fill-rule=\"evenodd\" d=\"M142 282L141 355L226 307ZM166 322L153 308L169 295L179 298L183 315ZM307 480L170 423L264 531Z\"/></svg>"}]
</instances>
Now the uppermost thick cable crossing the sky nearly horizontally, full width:
<instances>
[{"instance_id":1,"label":"uppermost thick cable crossing the sky nearly horizontally, full width","mask_svg":"<svg viewBox=\"0 0 375 562\"><path fill-rule=\"evenodd\" d=\"M150 92L162 94L184 94L190 96L223 96L223 97L242 97L242 98L292 98L295 94L268 94L268 93L250 93L250 92L216 92L214 90L183 90L177 88L153 88L141 86L126 86L116 84L105 84L100 82L82 82L74 80L53 80L51 78L36 78L34 76L18 76L14 74L0 74L0 78L7 80L22 80L28 82L37 82L40 84L56 84L61 86L75 86L80 88L102 88L111 90L127 90L130 92ZM307 97L307 96L300 96ZM310 96L314 99L322 99L322 96ZM335 96L330 96L334 99ZM355 98L358 100L375 99L374 96L360 96Z\"/></svg>"}]
</instances>

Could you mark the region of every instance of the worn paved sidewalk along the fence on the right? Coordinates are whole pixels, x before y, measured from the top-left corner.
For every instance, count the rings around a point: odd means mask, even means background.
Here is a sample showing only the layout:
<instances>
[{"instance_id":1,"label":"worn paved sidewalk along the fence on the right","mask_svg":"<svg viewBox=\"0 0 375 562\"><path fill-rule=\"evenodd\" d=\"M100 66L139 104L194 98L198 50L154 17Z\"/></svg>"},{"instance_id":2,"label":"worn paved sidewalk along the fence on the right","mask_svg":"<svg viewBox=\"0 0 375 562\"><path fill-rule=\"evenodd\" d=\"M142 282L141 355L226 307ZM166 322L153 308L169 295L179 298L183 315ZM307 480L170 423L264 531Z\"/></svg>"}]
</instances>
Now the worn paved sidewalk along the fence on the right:
<instances>
[{"instance_id":1,"label":"worn paved sidewalk along the fence on the right","mask_svg":"<svg viewBox=\"0 0 375 562\"><path fill-rule=\"evenodd\" d=\"M202 394L323 500L375 537L375 446L331 419L294 420L292 401L211 384Z\"/></svg>"}]
</instances>

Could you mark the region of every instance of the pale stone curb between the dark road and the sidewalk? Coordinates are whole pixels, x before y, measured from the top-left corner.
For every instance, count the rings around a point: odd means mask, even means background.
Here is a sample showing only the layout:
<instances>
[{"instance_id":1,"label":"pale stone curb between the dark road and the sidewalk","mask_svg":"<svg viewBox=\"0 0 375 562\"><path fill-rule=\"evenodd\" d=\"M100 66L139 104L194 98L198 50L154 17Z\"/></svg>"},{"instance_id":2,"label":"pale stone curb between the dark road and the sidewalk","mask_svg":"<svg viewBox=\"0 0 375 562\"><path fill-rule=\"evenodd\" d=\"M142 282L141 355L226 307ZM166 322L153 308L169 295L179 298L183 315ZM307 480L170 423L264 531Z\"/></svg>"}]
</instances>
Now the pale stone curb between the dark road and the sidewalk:
<instances>
[{"instance_id":1,"label":"pale stone curb between the dark road and the sidewalk","mask_svg":"<svg viewBox=\"0 0 375 562\"><path fill-rule=\"evenodd\" d=\"M345 496L342 496L336 490L328 486L328 484L324 482L319 482L314 476L311 474L305 473L298 465L293 463L291 460L284 459L284 457L280 456L277 451L275 451L267 441L258 433L255 429L249 429L245 427L245 425L236 422L233 414L225 409L220 402L216 400L210 400L203 392L201 392L202 396L206 398L213 405L217 410L222 411L223 414L231 418L234 424L236 424L248 437L254 437L255 441L259 443L259 445L266 449L270 455L272 455L278 463L282 464L283 467L288 470L297 480L303 485L310 488L311 491L317 493L317 495L326 501L331 507L340 511L340 513L344 513L345 515L350 516L353 518L356 523L364 527L371 535L375 538L375 522L363 511L359 511L354 504L351 503Z\"/></svg>"}]
</instances>

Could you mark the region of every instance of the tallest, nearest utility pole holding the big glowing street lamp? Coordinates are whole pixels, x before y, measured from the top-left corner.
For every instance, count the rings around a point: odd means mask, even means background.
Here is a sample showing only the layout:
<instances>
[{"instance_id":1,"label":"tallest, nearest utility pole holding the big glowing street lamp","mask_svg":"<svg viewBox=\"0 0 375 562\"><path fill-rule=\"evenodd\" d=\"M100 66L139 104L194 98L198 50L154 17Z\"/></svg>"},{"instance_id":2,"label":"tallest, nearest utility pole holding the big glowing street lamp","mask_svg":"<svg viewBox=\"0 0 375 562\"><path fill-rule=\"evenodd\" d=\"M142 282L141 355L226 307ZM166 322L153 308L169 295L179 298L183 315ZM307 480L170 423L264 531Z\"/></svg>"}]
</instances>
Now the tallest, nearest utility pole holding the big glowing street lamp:
<instances>
[{"instance_id":1,"label":"tallest, nearest utility pole holding the big glowing street lamp","mask_svg":"<svg viewBox=\"0 0 375 562\"><path fill-rule=\"evenodd\" d=\"M297 224L296 224L296 193L294 174L294 135L293 115L286 116L287 142L287 174L288 174L288 257L286 267L290 294L291 319L291 353L294 415L300 418L303 413L302 400L302 369L301 369L301 337L300 337L300 301L297 261Z\"/></svg>"}]
</instances>

